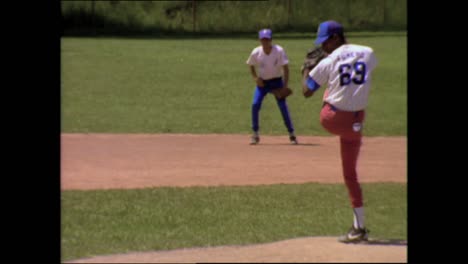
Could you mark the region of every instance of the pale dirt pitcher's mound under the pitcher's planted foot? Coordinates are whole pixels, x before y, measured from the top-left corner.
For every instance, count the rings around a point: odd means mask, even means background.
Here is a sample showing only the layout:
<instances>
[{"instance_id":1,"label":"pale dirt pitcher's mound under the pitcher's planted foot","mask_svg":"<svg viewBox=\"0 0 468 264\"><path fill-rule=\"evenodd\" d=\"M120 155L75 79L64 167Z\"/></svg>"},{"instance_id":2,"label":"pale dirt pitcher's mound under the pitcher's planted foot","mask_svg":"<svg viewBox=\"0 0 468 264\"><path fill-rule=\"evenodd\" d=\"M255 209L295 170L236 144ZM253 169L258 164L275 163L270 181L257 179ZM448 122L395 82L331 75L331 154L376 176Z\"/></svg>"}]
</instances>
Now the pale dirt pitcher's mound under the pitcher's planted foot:
<instances>
[{"instance_id":1,"label":"pale dirt pitcher's mound under the pitcher's planted foot","mask_svg":"<svg viewBox=\"0 0 468 264\"><path fill-rule=\"evenodd\" d=\"M196 263L196 262L407 262L407 243L370 240L343 244L336 237L308 237L250 246L220 246L118 254L68 263Z\"/></svg>"}]
</instances>

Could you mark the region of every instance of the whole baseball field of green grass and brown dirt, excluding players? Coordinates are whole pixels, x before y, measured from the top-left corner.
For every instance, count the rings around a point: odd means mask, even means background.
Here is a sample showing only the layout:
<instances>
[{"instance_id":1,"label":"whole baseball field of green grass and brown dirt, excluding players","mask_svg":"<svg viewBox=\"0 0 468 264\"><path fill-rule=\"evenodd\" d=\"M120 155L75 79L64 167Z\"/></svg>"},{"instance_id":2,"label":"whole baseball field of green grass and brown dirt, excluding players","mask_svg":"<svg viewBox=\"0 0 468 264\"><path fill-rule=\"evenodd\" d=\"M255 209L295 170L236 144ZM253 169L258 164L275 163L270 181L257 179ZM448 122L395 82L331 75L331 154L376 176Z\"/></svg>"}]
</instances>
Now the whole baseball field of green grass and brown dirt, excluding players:
<instances>
[{"instance_id":1,"label":"whole baseball field of green grass and brown dirt, excluding players","mask_svg":"<svg viewBox=\"0 0 468 264\"><path fill-rule=\"evenodd\" d=\"M299 145L273 97L250 146L255 38L61 40L64 262L406 262L406 32L349 34L374 48L358 173L371 242L351 225L338 138L305 100L312 36L281 35Z\"/></svg>"}]
</instances>

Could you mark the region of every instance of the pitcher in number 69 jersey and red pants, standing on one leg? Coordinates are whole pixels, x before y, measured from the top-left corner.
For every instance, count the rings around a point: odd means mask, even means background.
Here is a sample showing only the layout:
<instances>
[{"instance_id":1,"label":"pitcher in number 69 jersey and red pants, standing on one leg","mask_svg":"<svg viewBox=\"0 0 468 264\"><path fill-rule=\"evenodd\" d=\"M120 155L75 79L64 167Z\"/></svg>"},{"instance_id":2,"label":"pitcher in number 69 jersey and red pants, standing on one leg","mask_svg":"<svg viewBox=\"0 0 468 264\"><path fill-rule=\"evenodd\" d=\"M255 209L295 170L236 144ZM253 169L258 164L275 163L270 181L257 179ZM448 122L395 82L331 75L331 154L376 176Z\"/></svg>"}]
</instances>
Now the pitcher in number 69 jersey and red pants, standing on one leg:
<instances>
[{"instance_id":1,"label":"pitcher in number 69 jersey and red pants, standing on one leg","mask_svg":"<svg viewBox=\"0 0 468 264\"><path fill-rule=\"evenodd\" d=\"M363 197L356 164L371 72L377 61L370 47L347 44L342 25L335 21L320 24L315 44L321 44L328 56L310 72L303 72L302 90L304 96L309 97L321 86L327 85L320 123L327 131L340 137L343 176L353 207L354 222L339 241L367 241L369 230L364 223Z\"/></svg>"}]
</instances>

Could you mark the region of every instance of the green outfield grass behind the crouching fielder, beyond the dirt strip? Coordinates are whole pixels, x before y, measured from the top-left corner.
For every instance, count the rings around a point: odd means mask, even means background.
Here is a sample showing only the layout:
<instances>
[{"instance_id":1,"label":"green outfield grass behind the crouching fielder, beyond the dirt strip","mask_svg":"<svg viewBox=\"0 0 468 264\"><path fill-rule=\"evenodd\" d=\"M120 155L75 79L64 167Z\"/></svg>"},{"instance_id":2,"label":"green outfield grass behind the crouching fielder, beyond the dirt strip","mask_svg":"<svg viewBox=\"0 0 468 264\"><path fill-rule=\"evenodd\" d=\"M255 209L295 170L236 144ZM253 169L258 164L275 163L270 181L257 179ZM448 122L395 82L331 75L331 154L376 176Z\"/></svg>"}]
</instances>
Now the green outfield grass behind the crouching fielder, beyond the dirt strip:
<instances>
[{"instance_id":1,"label":"green outfield grass behind the crouching fielder, beyond the dirt strip","mask_svg":"<svg viewBox=\"0 0 468 264\"><path fill-rule=\"evenodd\" d=\"M350 34L374 48L364 132L406 135L406 35ZM276 36L276 35L275 35ZM290 60L288 106L299 135L328 135L319 123L323 89L301 94L299 69L313 39L275 37ZM62 132L250 133L254 83L245 64L256 36L204 39L62 38ZM262 134L284 134L276 101L260 112Z\"/></svg>"}]
</instances>

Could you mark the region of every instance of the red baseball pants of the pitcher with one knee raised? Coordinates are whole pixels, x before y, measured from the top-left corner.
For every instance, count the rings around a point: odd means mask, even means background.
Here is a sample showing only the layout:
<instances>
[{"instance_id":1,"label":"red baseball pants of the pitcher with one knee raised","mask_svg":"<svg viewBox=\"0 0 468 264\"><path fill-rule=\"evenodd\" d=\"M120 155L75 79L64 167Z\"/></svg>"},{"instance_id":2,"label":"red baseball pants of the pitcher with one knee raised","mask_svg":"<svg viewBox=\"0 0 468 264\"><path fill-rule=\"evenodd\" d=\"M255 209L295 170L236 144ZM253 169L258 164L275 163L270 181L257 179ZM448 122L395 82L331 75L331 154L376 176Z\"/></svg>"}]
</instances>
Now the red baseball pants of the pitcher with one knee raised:
<instances>
[{"instance_id":1,"label":"red baseball pants of the pitcher with one knee raised","mask_svg":"<svg viewBox=\"0 0 468 264\"><path fill-rule=\"evenodd\" d=\"M325 103L320 111L320 123L330 133L340 137L343 177L353 208L363 206L362 190L356 172L362 143L362 123L365 112L346 112Z\"/></svg>"}]
</instances>

